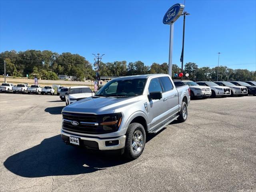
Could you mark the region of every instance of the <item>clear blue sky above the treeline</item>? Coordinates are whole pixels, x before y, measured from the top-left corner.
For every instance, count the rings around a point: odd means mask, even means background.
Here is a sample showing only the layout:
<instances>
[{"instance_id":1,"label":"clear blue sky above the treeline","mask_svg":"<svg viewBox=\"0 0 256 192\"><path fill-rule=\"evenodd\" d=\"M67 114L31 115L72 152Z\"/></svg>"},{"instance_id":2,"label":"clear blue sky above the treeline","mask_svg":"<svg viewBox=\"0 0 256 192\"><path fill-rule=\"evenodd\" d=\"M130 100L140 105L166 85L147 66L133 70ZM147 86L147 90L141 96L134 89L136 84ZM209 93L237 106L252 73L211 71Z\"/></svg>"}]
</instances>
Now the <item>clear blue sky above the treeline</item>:
<instances>
[{"instance_id":1,"label":"clear blue sky above the treeline","mask_svg":"<svg viewBox=\"0 0 256 192\"><path fill-rule=\"evenodd\" d=\"M168 62L168 1L0 1L0 52L71 52L93 62ZM184 62L256 70L255 0L186 0ZM180 64L182 18L174 23L173 63Z\"/></svg>"}]
</instances>

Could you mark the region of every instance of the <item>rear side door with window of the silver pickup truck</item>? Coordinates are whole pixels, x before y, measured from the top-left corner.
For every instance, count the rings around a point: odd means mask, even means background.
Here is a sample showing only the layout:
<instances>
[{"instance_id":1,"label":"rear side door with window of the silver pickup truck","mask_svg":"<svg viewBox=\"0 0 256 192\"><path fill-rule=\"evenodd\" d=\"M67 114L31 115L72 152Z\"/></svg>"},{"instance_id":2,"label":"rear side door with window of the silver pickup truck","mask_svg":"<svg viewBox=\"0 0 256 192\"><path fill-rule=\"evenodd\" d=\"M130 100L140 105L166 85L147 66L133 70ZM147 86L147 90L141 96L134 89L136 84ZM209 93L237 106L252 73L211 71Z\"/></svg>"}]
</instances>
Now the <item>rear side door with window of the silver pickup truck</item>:
<instances>
[{"instance_id":1,"label":"rear side door with window of the silver pickup truck","mask_svg":"<svg viewBox=\"0 0 256 192\"><path fill-rule=\"evenodd\" d=\"M168 76L159 77L163 88L163 100L168 101L167 117L171 117L179 111L179 96L178 90L173 86L172 81Z\"/></svg>"}]
</instances>

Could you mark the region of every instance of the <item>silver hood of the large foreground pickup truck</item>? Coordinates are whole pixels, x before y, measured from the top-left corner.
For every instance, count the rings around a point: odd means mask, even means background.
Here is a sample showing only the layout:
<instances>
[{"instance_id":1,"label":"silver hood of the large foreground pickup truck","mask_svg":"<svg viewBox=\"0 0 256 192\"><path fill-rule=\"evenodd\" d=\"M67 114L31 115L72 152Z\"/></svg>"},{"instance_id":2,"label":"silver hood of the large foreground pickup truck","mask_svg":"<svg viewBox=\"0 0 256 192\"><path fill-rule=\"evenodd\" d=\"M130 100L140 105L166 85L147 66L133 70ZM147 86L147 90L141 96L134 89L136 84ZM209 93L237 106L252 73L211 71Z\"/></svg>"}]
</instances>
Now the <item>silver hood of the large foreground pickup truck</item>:
<instances>
[{"instance_id":1,"label":"silver hood of the large foreground pickup truck","mask_svg":"<svg viewBox=\"0 0 256 192\"><path fill-rule=\"evenodd\" d=\"M118 108L138 102L139 97L89 97L63 108L62 112L109 114Z\"/></svg>"}]
</instances>

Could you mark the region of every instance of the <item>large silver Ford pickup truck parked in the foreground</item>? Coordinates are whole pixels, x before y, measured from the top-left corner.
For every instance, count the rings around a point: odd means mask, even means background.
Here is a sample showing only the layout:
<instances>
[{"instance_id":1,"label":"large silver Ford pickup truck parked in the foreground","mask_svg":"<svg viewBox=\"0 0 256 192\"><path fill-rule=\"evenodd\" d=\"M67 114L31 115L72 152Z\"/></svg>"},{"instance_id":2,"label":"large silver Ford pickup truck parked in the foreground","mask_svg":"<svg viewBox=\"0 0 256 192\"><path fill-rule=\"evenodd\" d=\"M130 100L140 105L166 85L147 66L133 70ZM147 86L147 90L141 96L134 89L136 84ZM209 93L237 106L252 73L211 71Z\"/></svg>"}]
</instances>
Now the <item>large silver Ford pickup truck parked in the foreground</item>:
<instances>
[{"instance_id":1,"label":"large silver Ford pickup truck parked in the foreground","mask_svg":"<svg viewBox=\"0 0 256 192\"><path fill-rule=\"evenodd\" d=\"M186 121L189 103L189 87L176 88L169 75L116 78L94 96L63 108L61 137L66 144L117 150L136 159L144 150L146 133L156 133L174 120Z\"/></svg>"}]
</instances>

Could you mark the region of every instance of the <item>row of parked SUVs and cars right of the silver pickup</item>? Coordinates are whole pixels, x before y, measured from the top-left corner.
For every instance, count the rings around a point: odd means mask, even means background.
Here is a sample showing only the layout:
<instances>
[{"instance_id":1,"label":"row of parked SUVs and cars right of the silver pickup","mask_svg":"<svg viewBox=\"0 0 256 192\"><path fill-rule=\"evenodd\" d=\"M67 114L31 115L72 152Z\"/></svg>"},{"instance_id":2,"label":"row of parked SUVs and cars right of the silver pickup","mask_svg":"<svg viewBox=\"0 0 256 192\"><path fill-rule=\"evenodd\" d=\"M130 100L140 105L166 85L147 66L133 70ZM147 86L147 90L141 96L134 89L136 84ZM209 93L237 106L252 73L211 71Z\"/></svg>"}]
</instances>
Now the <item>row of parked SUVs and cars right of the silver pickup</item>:
<instances>
[{"instance_id":1,"label":"row of parked SUVs and cars right of the silver pickup","mask_svg":"<svg viewBox=\"0 0 256 192\"><path fill-rule=\"evenodd\" d=\"M250 84L249 84L250 83ZM216 96L234 96L234 95L256 95L256 82L248 81L199 81L176 80L175 86L188 85L191 90L191 98L196 97L216 97Z\"/></svg>"}]
</instances>

